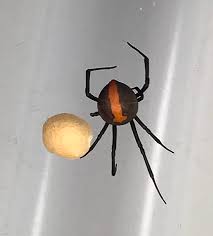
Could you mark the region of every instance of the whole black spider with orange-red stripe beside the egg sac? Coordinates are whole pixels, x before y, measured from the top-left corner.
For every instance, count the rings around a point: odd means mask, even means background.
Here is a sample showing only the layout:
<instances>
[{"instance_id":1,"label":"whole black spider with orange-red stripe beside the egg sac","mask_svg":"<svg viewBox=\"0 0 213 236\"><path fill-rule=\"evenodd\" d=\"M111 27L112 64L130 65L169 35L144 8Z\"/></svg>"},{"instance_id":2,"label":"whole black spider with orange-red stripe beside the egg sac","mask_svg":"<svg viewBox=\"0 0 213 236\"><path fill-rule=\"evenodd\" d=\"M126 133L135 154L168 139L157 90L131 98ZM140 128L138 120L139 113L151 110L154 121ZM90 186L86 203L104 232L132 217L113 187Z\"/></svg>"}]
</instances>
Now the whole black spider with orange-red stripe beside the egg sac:
<instances>
[{"instance_id":1,"label":"whole black spider with orange-red stripe beside the egg sac","mask_svg":"<svg viewBox=\"0 0 213 236\"><path fill-rule=\"evenodd\" d=\"M100 92L98 97L95 97L90 93L90 75L93 71L98 70L110 70L116 68L116 66L110 66L110 67L99 67L99 68L92 68L86 70L86 89L85 93L88 98L91 100L97 102L97 108L98 111L94 113L90 113L92 117L100 116L104 121L105 125L103 126L102 130L98 134L96 140L91 145L88 152L82 156L81 158L85 157L88 153L90 153L99 140L102 138L103 134L107 130L109 125L112 125L112 176L115 176L117 171L117 164L115 161L115 151L116 151L116 143L117 143L117 125L124 125L127 123L130 123L135 141L140 149L140 152L143 156L143 159L145 161L149 176L151 177L154 186L160 196L160 198L163 200L163 202L166 204L166 201L164 200L157 184L155 181L154 174L152 172L151 166L149 164L149 161L147 159L145 150L143 148L143 145L140 141L138 132L135 127L134 120L163 148L165 148L167 151L174 153L172 150L167 148L160 140L157 138L152 131L140 120L140 118L137 116L138 111L138 103L144 99L144 92L149 87L149 58L142 53L139 49L137 49L135 46L127 42L127 44L133 48L136 52L138 52L144 59L144 66L145 66L145 83L140 89L139 87L130 88L124 83L121 83L117 80L111 80ZM134 90L136 92L134 92Z\"/></svg>"}]
</instances>

